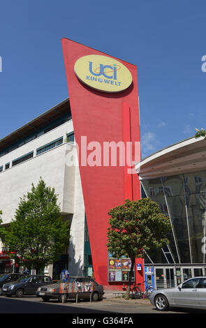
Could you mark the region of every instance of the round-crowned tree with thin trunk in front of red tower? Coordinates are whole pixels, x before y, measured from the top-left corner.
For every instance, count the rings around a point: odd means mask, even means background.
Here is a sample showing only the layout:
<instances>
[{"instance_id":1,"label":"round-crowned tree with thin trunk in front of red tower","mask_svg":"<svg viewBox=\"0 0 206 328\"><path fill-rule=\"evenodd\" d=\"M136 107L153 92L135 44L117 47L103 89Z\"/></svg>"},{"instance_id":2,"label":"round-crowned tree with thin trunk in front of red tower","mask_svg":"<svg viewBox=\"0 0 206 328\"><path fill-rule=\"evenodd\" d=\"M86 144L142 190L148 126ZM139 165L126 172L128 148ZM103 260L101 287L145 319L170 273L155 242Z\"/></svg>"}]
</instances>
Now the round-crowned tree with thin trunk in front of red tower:
<instances>
[{"instance_id":1,"label":"round-crowned tree with thin trunk in front of red tower","mask_svg":"<svg viewBox=\"0 0 206 328\"><path fill-rule=\"evenodd\" d=\"M149 198L126 200L111 209L108 228L108 251L115 258L131 258L126 298L129 298L135 258L143 258L143 250L161 248L168 244L166 234L171 230L170 219L161 214L159 204Z\"/></svg>"}]
</instances>

